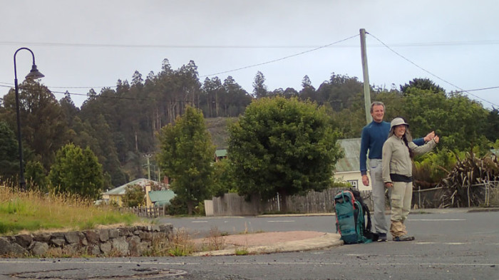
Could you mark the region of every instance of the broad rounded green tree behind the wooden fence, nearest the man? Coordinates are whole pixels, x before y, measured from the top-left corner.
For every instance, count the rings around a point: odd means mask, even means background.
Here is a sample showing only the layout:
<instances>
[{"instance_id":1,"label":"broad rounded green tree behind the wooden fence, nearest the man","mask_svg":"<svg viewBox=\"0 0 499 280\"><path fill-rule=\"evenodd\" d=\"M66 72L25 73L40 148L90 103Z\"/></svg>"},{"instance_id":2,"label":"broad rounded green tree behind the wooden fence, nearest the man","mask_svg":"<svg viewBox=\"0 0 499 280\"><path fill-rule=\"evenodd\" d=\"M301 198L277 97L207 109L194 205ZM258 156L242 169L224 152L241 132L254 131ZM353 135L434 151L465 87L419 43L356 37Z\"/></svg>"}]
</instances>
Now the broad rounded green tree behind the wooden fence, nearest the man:
<instances>
[{"instance_id":1,"label":"broad rounded green tree behind the wooden fence, nearest the man","mask_svg":"<svg viewBox=\"0 0 499 280\"><path fill-rule=\"evenodd\" d=\"M262 98L230 127L229 158L240 195L304 194L331 185L339 133L324 108L297 98Z\"/></svg>"}]
</instances>

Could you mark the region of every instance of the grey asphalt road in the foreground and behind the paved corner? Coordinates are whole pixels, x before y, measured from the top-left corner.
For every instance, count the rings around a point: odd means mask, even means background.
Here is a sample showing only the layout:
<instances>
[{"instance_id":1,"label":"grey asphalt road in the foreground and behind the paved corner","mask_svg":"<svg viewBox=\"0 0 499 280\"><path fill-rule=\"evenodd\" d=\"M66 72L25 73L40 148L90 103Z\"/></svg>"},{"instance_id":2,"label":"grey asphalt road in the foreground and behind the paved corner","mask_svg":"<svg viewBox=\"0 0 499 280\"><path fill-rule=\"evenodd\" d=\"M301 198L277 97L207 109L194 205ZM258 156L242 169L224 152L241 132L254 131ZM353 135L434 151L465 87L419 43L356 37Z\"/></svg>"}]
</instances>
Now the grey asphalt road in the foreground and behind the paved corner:
<instances>
[{"instance_id":1,"label":"grey asphalt road in the foreground and behind the paved corner","mask_svg":"<svg viewBox=\"0 0 499 280\"><path fill-rule=\"evenodd\" d=\"M182 218L202 231L333 232L332 217ZM288 222L272 222L272 221ZM197 221L197 222L195 222ZM289 222L294 221L294 222ZM204 224L200 226L200 224ZM246 224L246 226L245 226ZM276 225L277 224L277 225ZM0 279L499 279L499 212L411 214L413 242L253 256L0 259Z\"/></svg>"}]
</instances>

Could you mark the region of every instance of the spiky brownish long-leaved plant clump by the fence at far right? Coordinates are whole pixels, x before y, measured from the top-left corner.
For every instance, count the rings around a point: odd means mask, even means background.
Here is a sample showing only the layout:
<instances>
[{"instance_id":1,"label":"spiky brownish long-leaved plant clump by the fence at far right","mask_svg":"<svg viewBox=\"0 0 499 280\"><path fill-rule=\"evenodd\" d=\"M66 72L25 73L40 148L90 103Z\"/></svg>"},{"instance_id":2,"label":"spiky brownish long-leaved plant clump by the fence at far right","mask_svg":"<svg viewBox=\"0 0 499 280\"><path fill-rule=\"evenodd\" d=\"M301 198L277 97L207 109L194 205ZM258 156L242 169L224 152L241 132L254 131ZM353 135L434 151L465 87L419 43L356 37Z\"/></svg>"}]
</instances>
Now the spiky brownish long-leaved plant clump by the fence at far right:
<instances>
[{"instance_id":1,"label":"spiky brownish long-leaved plant clump by the fence at far right","mask_svg":"<svg viewBox=\"0 0 499 280\"><path fill-rule=\"evenodd\" d=\"M475 207L485 200L485 184L499 180L498 157L488 154L476 157L467 152L463 160L456 155L456 166L443 179L440 207Z\"/></svg>"}]
</instances>

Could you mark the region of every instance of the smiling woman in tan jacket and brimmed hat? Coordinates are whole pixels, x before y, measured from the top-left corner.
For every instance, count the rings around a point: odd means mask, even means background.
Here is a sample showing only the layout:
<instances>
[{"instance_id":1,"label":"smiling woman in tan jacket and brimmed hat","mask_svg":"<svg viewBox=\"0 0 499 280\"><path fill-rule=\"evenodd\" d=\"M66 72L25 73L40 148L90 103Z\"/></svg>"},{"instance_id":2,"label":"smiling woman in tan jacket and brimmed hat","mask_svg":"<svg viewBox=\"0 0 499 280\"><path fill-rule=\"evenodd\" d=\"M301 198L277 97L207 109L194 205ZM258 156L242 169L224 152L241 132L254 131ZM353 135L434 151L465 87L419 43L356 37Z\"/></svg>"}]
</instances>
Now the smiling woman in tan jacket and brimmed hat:
<instances>
[{"instance_id":1,"label":"smiling woman in tan jacket and brimmed hat","mask_svg":"<svg viewBox=\"0 0 499 280\"><path fill-rule=\"evenodd\" d=\"M393 241L414 240L407 234L403 223L411 211L412 157L430 151L438 143L438 136L417 146L412 142L408 123L403 118L394 118L390 124L388 139L383 145L382 175L385 187L389 188L391 205L390 233Z\"/></svg>"}]
</instances>

